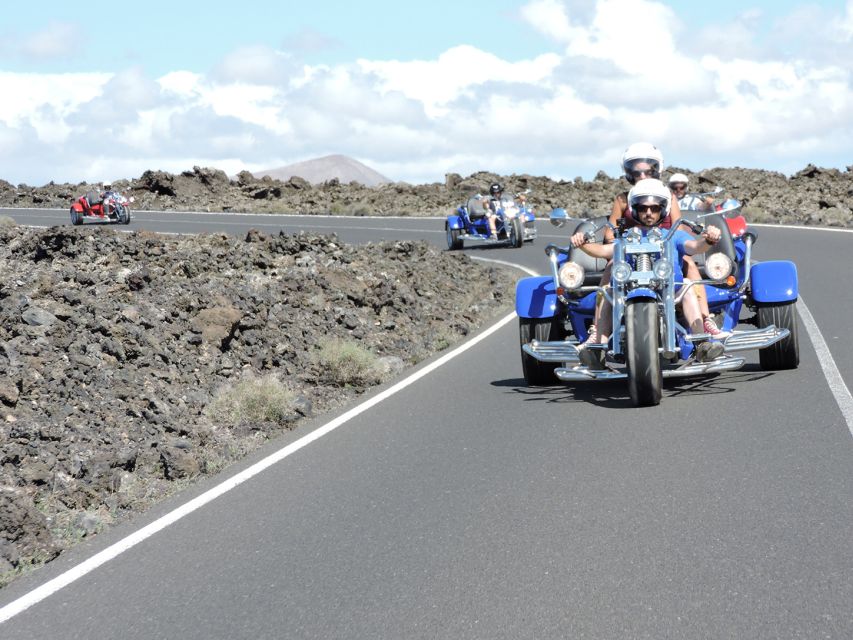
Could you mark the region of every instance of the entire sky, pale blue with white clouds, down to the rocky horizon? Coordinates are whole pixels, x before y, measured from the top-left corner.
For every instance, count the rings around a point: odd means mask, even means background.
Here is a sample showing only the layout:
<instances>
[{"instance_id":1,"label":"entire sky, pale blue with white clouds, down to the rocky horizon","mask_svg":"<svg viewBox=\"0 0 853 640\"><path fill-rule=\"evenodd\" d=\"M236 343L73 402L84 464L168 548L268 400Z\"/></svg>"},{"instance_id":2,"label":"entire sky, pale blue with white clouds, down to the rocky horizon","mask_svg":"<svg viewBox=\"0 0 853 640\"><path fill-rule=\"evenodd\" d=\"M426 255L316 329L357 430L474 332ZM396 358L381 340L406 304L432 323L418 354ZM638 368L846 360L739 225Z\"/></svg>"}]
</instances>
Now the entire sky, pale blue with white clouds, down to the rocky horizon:
<instances>
[{"instance_id":1,"label":"entire sky, pale blue with white clouds, down to the rocky horizon","mask_svg":"<svg viewBox=\"0 0 853 640\"><path fill-rule=\"evenodd\" d=\"M693 170L843 168L851 60L851 0L15 3L0 178L328 153L409 182L589 178L637 140Z\"/></svg>"}]
</instances>

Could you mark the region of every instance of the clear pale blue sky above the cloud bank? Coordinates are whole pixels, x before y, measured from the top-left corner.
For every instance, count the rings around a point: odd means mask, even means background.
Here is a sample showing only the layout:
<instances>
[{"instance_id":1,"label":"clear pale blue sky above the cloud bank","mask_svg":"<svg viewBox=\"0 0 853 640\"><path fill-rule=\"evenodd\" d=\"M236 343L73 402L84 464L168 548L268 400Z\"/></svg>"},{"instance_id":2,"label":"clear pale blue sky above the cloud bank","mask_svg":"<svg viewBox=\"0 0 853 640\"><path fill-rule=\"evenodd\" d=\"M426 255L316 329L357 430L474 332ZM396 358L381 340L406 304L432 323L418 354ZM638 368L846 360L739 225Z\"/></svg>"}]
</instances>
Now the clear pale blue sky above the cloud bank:
<instances>
[{"instance_id":1,"label":"clear pale blue sky above the cloud bank","mask_svg":"<svg viewBox=\"0 0 853 640\"><path fill-rule=\"evenodd\" d=\"M518 0L256 0L203 3L212 10L200 11L199 3L174 0L15 3L4 11L0 26L3 40L15 40L50 23L86 25L84 28L101 31L102 17L115 25L115 35L100 36L103 39L97 43L69 46L62 58L7 57L2 68L21 72L121 71L129 65L141 65L155 75L175 69L205 72L228 52L257 44L293 52L315 64L340 64L357 58L429 59L458 44L475 45L517 61L550 50L541 35L519 16L523 4ZM748 11L760 11L765 33L775 16L797 7L841 11L844 6L843 2L826 0L664 4L672 7L686 25L697 29L715 23L725 25ZM305 41L310 36L316 40L313 45Z\"/></svg>"}]
</instances>

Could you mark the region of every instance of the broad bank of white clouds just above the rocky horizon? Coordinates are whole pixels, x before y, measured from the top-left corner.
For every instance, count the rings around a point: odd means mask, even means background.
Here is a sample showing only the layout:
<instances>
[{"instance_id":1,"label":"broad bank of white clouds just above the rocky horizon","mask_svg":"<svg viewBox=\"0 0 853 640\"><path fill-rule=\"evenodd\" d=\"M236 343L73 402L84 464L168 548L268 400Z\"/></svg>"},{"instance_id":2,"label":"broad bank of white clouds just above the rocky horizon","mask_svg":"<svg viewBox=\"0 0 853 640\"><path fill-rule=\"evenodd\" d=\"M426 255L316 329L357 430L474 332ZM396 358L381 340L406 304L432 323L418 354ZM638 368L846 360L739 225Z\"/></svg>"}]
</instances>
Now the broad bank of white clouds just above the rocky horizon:
<instances>
[{"instance_id":1,"label":"broad bank of white clouds just above the rocky horizon","mask_svg":"<svg viewBox=\"0 0 853 640\"><path fill-rule=\"evenodd\" d=\"M796 55L777 47L794 42L778 35L799 14L765 40L764 18L745 14L721 40L652 0L533 0L521 15L554 50L521 61L459 45L429 60L310 66L251 46L208 74L0 72L16 96L0 102L0 144L13 150L0 178L235 173L329 153L410 182L481 169L592 177L616 175L637 140L693 169L840 166L853 143L853 56L842 55L853 0L824 11L824 26L808 23L820 37L800 39Z\"/></svg>"}]
</instances>

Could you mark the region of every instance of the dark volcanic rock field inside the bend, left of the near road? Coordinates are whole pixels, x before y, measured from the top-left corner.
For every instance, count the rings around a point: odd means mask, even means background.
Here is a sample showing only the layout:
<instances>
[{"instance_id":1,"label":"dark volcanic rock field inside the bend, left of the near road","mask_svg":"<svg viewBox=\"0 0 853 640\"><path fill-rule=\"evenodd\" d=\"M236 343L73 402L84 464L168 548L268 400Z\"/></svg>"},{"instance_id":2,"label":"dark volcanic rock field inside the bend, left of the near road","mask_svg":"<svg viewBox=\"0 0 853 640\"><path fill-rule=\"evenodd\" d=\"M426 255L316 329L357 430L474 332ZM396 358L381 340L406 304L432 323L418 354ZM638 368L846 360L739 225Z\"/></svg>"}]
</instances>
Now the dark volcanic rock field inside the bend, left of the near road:
<instances>
[{"instance_id":1,"label":"dark volcanic rock field inside the bend, left of the near road","mask_svg":"<svg viewBox=\"0 0 853 640\"><path fill-rule=\"evenodd\" d=\"M0 269L0 585L460 340L517 275L425 242L14 225ZM371 375L327 375L330 338ZM275 420L219 409L257 379L293 398Z\"/></svg>"}]
</instances>

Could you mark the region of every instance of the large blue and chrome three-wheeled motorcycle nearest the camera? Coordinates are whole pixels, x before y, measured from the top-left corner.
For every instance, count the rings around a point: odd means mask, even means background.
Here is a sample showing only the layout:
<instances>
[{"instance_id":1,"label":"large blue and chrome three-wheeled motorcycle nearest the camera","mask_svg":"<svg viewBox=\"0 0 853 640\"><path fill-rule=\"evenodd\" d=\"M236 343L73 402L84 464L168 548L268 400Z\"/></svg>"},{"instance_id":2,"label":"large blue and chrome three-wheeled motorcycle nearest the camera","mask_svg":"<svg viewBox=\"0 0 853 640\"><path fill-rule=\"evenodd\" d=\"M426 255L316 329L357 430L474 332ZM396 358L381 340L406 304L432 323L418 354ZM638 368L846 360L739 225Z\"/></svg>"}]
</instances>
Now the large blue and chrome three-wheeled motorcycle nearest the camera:
<instances>
[{"instance_id":1,"label":"large blue and chrome three-wheeled motorcycle nearest the camera","mask_svg":"<svg viewBox=\"0 0 853 640\"><path fill-rule=\"evenodd\" d=\"M739 352L758 349L765 370L796 368L799 364L797 268L793 262L756 262L752 247L757 239L740 215L740 203L707 214L686 212L671 230L653 229L642 234L613 228L602 216L582 220L575 232L601 241L610 226L615 234L609 282L601 282L606 260L592 258L581 249L549 244L545 248L550 275L523 278L516 286L521 363L528 385L559 381L626 379L635 405L656 405L662 379L732 371L745 364ZM563 209L549 216L555 226L570 221ZM677 283L677 253L669 236L680 225L700 233L713 224L722 231L720 241L704 255L705 279ZM711 339L691 334L677 305L686 291L704 284L713 314L722 318L727 334L720 342L723 354L711 361L696 357L696 345ZM592 324L596 296L612 303L613 334L607 344L587 348L605 352L601 369L581 364L578 346ZM741 318L746 308L754 315ZM753 324L756 329L739 328Z\"/></svg>"}]
</instances>

